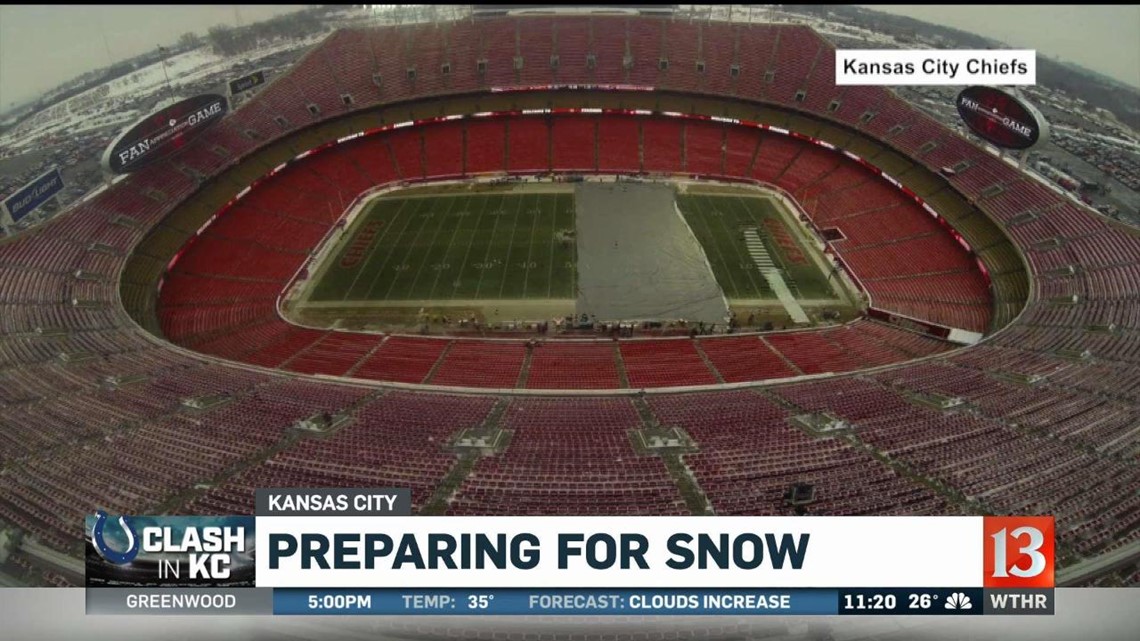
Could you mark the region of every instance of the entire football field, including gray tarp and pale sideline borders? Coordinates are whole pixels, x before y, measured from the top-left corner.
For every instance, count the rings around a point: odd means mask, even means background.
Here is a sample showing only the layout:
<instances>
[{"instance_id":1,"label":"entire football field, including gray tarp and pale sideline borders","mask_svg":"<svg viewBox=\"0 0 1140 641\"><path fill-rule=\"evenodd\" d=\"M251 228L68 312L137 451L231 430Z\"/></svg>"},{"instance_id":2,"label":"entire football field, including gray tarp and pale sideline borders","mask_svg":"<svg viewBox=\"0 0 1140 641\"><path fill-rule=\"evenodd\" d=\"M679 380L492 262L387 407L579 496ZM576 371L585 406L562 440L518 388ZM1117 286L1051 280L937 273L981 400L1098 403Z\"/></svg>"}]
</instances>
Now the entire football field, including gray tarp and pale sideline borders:
<instances>
[{"instance_id":1,"label":"entire football field, including gray tarp and pale sideline borders","mask_svg":"<svg viewBox=\"0 0 1140 641\"><path fill-rule=\"evenodd\" d=\"M633 186L583 189L441 185L378 196L329 241L284 307L302 324L369 330L429 317L698 318L677 310L691 298L709 298L686 289L702 274L712 298L742 317L782 322L796 308L791 301L846 302L816 248L768 195L690 186L670 188L658 202L632 196ZM670 227L682 218L679 229ZM697 249L692 265L682 260L690 244Z\"/></svg>"}]
</instances>

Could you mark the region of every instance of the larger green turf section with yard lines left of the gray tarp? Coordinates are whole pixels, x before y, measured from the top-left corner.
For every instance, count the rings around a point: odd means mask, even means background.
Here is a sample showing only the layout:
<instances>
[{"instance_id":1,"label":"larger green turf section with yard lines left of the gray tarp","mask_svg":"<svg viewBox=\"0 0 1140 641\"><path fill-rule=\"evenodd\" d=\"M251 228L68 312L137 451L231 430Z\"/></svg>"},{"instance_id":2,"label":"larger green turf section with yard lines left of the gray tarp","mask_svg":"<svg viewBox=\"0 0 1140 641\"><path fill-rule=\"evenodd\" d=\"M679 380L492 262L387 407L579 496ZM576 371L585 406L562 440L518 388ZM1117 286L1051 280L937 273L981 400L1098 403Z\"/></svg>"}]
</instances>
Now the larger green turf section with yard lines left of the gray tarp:
<instances>
[{"instance_id":1,"label":"larger green turf section with yard lines left of the gray tarp","mask_svg":"<svg viewBox=\"0 0 1140 641\"><path fill-rule=\"evenodd\" d=\"M571 193L382 197L353 221L309 300L572 299L573 229Z\"/></svg>"}]
</instances>

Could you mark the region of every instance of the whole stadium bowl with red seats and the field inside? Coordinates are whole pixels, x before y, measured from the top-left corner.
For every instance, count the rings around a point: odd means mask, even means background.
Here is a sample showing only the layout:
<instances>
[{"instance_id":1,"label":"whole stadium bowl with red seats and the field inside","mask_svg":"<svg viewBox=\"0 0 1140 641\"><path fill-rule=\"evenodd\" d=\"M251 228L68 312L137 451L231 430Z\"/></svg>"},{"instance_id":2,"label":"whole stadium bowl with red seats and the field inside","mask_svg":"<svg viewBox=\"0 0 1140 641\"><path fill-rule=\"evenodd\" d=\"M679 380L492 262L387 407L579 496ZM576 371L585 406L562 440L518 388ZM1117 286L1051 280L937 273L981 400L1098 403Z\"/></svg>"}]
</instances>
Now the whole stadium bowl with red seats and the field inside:
<instances>
[{"instance_id":1,"label":"whole stadium bowl with red seats and the field inside","mask_svg":"<svg viewBox=\"0 0 1140 641\"><path fill-rule=\"evenodd\" d=\"M834 49L488 8L136 123L114 180L0 241L0 569L82 584L92 505L409 487L417 514L1048 513L1058 585L1140 584L1140 237L837 86ZM130 136L166 119L169 153Z\"/></svg>"}]
</instances>

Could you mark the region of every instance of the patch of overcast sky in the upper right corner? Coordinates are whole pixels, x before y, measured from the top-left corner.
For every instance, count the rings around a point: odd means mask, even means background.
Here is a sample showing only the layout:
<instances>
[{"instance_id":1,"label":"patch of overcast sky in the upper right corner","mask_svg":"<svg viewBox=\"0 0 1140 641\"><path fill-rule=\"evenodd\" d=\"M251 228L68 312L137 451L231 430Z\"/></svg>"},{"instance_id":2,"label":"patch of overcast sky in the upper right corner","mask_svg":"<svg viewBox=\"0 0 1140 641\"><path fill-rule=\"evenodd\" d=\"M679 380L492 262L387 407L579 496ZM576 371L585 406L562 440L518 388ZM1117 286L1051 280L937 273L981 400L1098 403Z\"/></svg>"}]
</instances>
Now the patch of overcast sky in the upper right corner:
<instances>
[{"instance_id":1,"label":"patch of overcast sky in the upper right corner","mask_svg":"<svg viewBox=\"0 0 1140 641\"><path fill-rule=\"evenodd\" d=\"M863 5L1001 40L1140 87L1140 5Z\"/></svg>"}]
</instances>

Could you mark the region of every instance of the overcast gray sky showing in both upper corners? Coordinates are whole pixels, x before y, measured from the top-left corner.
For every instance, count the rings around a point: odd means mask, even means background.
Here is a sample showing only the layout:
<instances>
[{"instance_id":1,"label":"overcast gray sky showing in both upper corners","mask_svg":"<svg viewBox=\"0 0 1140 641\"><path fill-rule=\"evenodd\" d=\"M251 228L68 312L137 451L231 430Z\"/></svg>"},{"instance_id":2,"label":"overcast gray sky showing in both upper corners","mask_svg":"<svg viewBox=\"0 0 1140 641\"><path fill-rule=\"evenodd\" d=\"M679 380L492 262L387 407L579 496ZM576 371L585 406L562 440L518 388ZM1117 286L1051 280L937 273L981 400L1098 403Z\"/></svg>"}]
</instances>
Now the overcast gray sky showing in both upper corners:
<instances>
[{"instance_id":1,"label":"overcast gray sky showing in both upper corners","mask_svg":"<svg viewBox=\"0 0 1140 641\"><path fill-rule=\"evenodd\" d=\"M873 6L1060 56L1140 87L1140 6ZM299 5L0 6L0 112L93 68Z\"/></svg>"}]
</instances>

